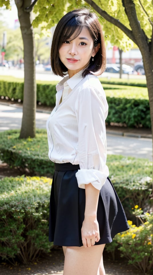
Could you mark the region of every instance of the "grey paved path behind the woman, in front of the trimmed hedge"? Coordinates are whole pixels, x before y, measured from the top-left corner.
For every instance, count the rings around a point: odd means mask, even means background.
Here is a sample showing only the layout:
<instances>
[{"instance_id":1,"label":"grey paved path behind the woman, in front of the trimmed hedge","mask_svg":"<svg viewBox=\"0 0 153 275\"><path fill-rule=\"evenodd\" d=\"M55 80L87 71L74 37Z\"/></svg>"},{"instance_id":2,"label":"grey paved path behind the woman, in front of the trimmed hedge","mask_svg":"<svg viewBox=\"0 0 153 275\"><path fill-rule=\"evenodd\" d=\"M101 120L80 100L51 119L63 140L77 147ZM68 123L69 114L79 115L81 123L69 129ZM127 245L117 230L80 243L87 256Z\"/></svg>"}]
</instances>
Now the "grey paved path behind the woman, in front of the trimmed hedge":
<instances>
[{"instance_id":1,"label":"grey paved path behind the woman, in front of the trimmed hedge","mask_svg":"<svg viewBox=\"0 0 153 275\"><path fill-rule=\"evenodd\" d=\"M49 113L36 112L36 127L46 128ZM20 129L22 108L0 105L0 131ZM107 133L108 154L148 158L152 161L152 139L136 138Z\"/></svg>"}]
</instances>

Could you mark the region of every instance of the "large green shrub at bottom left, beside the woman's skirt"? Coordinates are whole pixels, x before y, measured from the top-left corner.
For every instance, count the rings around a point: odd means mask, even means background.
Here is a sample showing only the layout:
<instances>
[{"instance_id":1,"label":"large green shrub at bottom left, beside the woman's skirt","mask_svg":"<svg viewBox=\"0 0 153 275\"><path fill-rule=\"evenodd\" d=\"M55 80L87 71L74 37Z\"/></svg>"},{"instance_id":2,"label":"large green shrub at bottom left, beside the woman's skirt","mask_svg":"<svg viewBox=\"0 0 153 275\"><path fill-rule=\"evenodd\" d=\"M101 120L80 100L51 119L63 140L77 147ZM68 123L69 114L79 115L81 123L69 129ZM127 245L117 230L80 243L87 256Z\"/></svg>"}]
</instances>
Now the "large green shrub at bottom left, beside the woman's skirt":
<instances>
[{"instance_id":1,"label":"large green shrub at bottom left, beside the woman's skirt","mask_svg":"<svg viewBox=\"0 0 153 275\"><path fill-rule=\"evenodd\" d=\"M51 179L9 177L0 180L0 257L27 264L49 252Z\"/></svg>"}]
</instances>

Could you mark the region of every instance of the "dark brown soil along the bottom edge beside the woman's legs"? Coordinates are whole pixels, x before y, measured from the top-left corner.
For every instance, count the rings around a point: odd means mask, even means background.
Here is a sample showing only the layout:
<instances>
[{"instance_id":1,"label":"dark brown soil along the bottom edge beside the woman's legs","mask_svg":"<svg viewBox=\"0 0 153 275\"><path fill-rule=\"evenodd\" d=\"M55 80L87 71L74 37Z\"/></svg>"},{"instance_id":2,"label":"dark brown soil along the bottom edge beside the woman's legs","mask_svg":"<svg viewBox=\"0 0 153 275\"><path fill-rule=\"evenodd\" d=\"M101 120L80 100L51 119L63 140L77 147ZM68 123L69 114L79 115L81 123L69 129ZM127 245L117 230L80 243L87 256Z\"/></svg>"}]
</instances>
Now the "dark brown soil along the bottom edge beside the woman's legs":
<instances>
[{"instance_id":1,"label":"dark brown soil along the bottom edge beside the woman's legs","mask_svg":"<svg viewBox=\"0 0 153 275\"><path fill-rule=\"evenodd\" d=\"M104 256L106 275L142 275L133 266L128 265L126 260L109 260ZM0 264L1 275L63 275L64 255L61 247L53 248L50 254L42 255L33 263L23 265L18 262L15 265L2 262ZM73 274L72 274L73 275Z\"/></svg>"}]
</instances>

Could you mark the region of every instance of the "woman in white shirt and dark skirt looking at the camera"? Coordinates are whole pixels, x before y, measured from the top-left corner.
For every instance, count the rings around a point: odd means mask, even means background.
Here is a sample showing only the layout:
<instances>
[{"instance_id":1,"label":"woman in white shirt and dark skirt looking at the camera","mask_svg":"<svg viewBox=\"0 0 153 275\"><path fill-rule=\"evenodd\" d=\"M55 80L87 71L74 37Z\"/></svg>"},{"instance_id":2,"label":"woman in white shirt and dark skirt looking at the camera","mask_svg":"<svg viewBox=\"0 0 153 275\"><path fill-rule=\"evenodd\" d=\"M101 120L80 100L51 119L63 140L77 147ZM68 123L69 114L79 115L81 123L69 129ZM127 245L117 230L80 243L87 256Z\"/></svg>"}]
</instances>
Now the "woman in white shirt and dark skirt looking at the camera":
<instances>
[{"instance_id":1,"label":"woman in white shirt and dark skirt looking at the camera","mask_svg":"<svg viewBox=\"0 0 153 275\"><path fill-rule=\"evenodd\" d=\"M63 246L64 275L104 275L105 244L128 229L106 166L108 104L96 76L105 66L96 15L84 8L67 13L54 32L51 67L56 75L68 75L56 87L47 121L49 158L55 162L49 241Z\"/></svg>"}]
</instances>

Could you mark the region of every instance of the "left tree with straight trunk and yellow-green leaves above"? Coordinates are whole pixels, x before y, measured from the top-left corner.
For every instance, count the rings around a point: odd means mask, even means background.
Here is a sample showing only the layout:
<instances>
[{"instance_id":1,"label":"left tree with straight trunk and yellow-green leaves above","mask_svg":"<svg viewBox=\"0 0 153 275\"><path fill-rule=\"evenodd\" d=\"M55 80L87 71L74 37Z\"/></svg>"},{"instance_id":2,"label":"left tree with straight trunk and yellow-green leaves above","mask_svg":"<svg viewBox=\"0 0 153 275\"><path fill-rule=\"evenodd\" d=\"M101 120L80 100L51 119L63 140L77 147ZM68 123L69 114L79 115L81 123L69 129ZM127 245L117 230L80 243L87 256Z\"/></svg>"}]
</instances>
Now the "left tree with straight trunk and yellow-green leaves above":
<instances>
[{"instance_id":1,"label":"left tree with straight trunk and yellow-green leaves above","mask_svg":"<svg viewBox=\"0 0 153 275\"><path fill-rule=\"evenodd\" d=\"M11 0L0 0L0 7L10 9ZM24 47L24 92L23 92L23 118L20 138L35 137L35 113L36 113L36 80L35 80L35 43L32 26L32 11L38 0L15 0L18 10L21 34ZM55 2L55 4L54 4ZM76 3L79 1L76 0ZM68 1L38 1L35 12L35 26L43 21L49 21L50 27L55 25L69 7ZM70 7L71 9L71 7ZM46 24L46 29L47 24Z\"/></svg>"}]
</instances>

